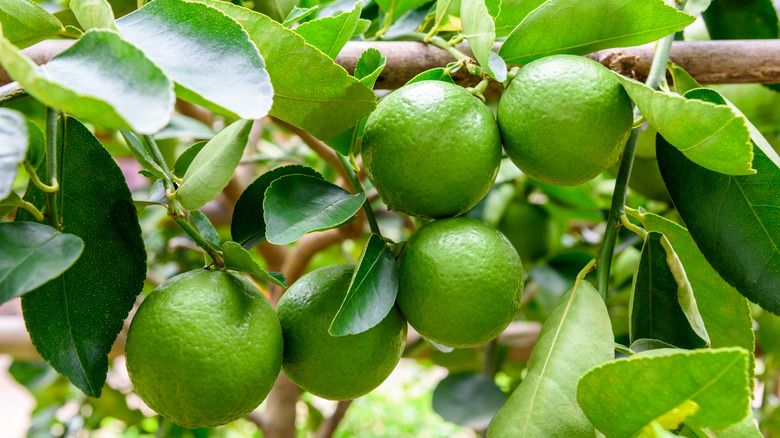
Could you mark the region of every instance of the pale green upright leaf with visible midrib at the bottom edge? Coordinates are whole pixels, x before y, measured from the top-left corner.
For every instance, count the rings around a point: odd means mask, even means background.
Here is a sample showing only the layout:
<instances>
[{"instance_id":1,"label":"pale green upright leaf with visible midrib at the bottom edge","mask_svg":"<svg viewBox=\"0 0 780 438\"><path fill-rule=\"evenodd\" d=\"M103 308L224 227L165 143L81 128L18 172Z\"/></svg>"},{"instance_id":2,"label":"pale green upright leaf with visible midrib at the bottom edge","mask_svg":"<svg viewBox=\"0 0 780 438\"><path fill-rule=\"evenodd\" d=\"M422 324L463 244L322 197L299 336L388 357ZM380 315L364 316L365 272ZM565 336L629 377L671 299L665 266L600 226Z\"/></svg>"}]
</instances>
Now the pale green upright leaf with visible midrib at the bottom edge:
<instances>
[{"instance_id":1,"label":"pale green upright leaf with visible midrib at the bottom edge","mask_svg":"<svg viewBox=\"0 0 780 438\"><path fill-rule=\"evenodd\" d=\"M493 418L488 435L592 438L593 426L575 402L577 382L589 369L612 360L614 347L604 301L582 281L544 322L528 374Z\"/></svg>"}]
</instances>

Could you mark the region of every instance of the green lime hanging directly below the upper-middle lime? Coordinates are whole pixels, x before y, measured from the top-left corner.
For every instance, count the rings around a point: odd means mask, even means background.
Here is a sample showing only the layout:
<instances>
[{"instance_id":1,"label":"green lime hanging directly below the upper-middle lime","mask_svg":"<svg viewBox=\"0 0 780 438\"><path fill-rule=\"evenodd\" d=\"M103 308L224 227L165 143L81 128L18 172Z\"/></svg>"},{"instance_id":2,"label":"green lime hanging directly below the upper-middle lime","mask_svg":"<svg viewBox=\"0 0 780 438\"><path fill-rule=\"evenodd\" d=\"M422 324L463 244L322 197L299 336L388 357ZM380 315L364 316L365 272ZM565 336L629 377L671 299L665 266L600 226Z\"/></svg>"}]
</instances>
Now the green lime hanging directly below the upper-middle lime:
<instances>
[{"instance_id":1,"label":"green lime hanging directly below the upper-middle lime","mask_svg":"<svg viewBox=\"0 0 780 438\"><path fill-rule=\"evenodd\" d=\"M523 265L495 228L448 218L420 228L404 248L398 305L409 324L455 348L493 340L520 312Z\"/></svg>"}]
</instances>

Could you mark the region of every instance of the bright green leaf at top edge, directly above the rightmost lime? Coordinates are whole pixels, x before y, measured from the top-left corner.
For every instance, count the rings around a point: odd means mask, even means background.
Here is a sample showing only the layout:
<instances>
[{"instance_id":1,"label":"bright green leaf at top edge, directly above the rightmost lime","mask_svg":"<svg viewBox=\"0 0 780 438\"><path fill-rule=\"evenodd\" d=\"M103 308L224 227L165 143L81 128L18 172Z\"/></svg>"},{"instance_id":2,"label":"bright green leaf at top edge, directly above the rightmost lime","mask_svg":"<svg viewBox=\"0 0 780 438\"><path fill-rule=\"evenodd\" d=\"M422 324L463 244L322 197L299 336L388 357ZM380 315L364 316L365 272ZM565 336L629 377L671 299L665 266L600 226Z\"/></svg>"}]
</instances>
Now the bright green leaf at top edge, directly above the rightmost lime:
<instances>
[{"instance_id":1,"label":"bright green leaf at top edge, directly above the rightmost lime","mask_svg":"<svg viewBox=\"0 0 780 438\"><path fill-rule=\"evenodd\" d=\"M663 0L549 0L523 19L498 54L508 64L527 64L560 53L584 55L638 46L677 32L695 19Z\"/></svg>"}]
</instances>

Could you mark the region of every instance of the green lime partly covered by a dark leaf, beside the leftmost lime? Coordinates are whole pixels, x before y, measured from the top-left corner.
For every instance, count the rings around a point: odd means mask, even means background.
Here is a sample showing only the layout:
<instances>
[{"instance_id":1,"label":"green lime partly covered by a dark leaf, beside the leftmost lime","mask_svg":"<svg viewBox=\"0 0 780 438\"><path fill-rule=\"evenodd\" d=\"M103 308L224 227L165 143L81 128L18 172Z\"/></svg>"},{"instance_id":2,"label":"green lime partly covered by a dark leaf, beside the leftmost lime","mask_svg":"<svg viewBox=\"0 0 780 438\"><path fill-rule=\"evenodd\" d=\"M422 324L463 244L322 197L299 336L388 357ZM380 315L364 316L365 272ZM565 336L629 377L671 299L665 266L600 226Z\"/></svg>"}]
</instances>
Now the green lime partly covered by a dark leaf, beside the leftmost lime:
<instances>
[{"instance_id":1,"label":"green lime partly covered by a dark leaf, beside the leftmost lime","mask_svg":"<svg viewBox=\"0 0 780 438\"><path fill-rule=\"evenodd\" d=\"M362 333L328 333L353 268L314 270L296 281L276 306L284 333L282 370L301 388L330 400L357 398L379 386L398 364L406 342L406 321L395 307Z\"/></svg>"}]
</instances>

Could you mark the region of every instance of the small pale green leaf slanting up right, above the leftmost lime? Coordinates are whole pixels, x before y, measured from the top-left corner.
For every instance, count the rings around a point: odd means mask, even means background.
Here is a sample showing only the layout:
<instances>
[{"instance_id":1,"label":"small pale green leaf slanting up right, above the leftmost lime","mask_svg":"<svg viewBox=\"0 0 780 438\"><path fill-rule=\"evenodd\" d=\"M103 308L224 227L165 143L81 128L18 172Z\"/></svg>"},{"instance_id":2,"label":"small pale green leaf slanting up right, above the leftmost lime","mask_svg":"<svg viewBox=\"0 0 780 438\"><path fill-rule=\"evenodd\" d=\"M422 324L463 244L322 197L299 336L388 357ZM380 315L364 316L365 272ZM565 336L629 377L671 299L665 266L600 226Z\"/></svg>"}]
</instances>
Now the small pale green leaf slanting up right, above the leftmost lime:
<instances>
[{"instance_id":1,"label":"small pale green leaf slanting up right, above the leftmost lime","mask_svg":"<svg viewBox=\"0 0 780 438\"><path fill-rule=\"evenodd\" d=\"M251 129L251 120L233 122L198 152L176 191L176 199L182 207L197 210L225 188L241 161Z\"/></svg>"}]
</instances>

